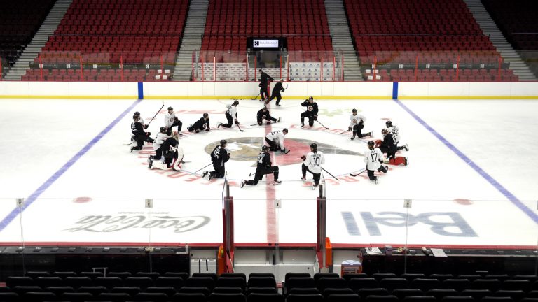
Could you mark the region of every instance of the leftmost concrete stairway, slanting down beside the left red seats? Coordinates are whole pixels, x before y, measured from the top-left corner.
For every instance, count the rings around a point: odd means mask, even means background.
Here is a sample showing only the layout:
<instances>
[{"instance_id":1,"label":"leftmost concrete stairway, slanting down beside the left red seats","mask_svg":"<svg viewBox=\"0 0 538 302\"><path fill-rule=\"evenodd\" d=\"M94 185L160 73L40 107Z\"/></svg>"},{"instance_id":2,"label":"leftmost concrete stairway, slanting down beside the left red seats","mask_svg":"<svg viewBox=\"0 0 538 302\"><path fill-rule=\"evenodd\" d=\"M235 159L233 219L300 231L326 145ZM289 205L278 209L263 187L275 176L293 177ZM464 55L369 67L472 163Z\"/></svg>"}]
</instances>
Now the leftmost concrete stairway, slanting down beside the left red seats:
<instances>
[{"instance_id":1,"label":"leftmost concrete stairway, slanting down beside the left red seats","mask_svg":"<svg viewBox=\"0 0 538 302\"><path fill-rule=\"evenodd\" d=\"M72 2L73 0L56 1L32 41L26 46L17 62L13 64L13 67L6 74L6 80L20 80L22 75L25 75L26 70L30 67L29 64L34 62L34 59L41 52L41 48L48 41L48 36L52 35L57 29Z\"/></svg>"}]
</instances>

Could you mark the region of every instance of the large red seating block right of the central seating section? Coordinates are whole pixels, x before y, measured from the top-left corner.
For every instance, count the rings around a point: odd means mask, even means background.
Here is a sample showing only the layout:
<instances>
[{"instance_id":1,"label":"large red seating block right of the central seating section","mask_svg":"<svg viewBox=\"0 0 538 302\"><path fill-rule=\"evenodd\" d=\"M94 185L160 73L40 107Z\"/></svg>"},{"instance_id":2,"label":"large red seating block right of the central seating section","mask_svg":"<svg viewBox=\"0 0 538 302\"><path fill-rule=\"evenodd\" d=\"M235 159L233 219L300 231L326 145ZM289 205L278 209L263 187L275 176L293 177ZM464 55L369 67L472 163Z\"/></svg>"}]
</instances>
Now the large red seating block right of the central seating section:
<instances>
[{"instance_id":1,"label":"large red seating block right of the central seating section","mask_svg":"<svg viewBox=\"0 0 538 302\"><path fill-rule=\"evenodd\" d=\"M462 0L345 0L345 8L366 80L517 80Z\"/></svg>"}]
</instances>

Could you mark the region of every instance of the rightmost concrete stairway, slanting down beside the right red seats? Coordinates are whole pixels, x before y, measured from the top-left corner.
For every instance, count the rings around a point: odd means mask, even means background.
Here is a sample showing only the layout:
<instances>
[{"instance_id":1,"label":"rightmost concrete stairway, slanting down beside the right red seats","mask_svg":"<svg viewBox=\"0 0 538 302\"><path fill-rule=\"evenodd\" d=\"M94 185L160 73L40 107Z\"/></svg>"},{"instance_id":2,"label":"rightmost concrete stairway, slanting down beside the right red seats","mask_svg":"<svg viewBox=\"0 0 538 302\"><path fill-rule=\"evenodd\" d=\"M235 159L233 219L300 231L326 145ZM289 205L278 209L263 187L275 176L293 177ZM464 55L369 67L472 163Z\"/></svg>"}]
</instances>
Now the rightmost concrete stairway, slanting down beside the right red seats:
<instances>
[{"instance_id":1,"label":"rightmost concrete stairway, slanting down beside the right red seats","mask_svg":"<svg viewBox=\"0 0 538 302\"><path fill-rule=\"evenodd\" d=\"M464 0L464 2L467 4L478 25L480 25L480 28L484 31L484 34L490 37L497 51L501 53L504 62L510 63L510 69L513 70L513 74L518 75L521 81L537 80L516 50L506 41L497 24L493 22L490 14L485 10L482 2L480 0Z\"/></svg>"}]
</instances>

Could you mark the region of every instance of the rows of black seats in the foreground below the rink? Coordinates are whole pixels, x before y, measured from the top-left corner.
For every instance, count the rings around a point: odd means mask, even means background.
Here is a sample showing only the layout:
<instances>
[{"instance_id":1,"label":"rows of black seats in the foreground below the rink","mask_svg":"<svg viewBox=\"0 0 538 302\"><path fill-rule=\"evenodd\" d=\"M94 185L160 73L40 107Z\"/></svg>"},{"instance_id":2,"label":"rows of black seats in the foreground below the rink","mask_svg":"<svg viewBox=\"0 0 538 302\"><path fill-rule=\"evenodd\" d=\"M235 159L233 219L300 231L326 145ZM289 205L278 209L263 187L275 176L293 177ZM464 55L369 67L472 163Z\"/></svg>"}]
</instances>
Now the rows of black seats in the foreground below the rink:
<instances>
[{"instance_id":1,"label":"rows of black seats in the foreground below the rink","mask_svg":"<svg viewBox=\"0 0 538 302\"><path fill-rule=\"evenodd\" d=\"M28 272L8 277L0 301L536 302L534 275ZM2 280L4 281L4 280Z\"/></svg>"}]
</instances>

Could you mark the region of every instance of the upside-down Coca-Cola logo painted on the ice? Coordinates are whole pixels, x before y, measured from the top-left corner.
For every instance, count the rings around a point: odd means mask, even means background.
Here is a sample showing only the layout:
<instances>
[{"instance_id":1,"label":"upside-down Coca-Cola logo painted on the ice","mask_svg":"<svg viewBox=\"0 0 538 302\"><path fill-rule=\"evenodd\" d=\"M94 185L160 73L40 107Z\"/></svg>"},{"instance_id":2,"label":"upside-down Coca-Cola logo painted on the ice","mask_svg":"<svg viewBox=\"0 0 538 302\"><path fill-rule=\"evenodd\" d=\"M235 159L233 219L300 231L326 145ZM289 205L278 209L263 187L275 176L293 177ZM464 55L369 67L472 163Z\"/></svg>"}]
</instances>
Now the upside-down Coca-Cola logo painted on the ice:
<instances>
[{"instance_id":1,"label":"upside-down Coca-Cola logo painted on the ice","mask_svg":"<svg viewBox=\"0 0 538 302\"><path fill-rule=\"evenodd\" d=\"M126 229L166 229L173 233L185 233L200 229L209 223L207 216L177 217L163 214L118 213L118 215L88 215L75 222L76 227L64 231L88 231L110 233Z\"/></svg>"}]
</instances>

